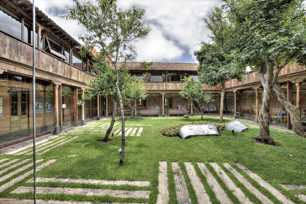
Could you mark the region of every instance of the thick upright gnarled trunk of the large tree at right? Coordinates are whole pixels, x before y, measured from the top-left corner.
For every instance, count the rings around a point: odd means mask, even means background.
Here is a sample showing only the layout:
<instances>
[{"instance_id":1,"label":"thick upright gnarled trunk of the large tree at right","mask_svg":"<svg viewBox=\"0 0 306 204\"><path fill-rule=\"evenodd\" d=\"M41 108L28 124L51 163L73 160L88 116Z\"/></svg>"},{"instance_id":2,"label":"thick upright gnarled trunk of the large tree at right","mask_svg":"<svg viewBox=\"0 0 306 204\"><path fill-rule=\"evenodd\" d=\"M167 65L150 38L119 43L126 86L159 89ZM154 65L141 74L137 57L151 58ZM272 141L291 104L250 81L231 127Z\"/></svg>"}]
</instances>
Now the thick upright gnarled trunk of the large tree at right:
<instances>
[{"instance_id":1,"label":"thick upright gnarled trunk of the large tree at right","mask_svg":"<svg viewBox=\"0 0 306 204\"><path fill-rule=\"evenodd\" d=\"M269 60L269 57L266 56L266 61ZM273 88L273 64L267 63L267 76L265 77L265 66L263 63L259 65L259 79L263 85L263 104L259 111L259 135L258 139L260 139L264 143L268 143L274 145L274 139L270 137L270 101L272 97L272 88Z\"/></svg>"}]
</instances>

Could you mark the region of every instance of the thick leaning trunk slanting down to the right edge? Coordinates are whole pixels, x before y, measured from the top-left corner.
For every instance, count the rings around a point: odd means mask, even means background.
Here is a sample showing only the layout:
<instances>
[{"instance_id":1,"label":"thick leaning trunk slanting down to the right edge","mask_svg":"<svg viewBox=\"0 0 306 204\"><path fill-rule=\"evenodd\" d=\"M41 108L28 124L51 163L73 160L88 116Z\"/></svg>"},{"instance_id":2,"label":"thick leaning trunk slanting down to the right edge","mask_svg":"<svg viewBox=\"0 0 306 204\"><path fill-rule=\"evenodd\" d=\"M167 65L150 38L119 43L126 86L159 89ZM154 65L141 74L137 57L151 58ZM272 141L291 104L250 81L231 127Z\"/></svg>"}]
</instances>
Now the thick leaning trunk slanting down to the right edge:
<instances>
[{"instance_id":1,"label":"thick leaning trunk slanting down to the right edge","mask_svg":"<svg viewBox=\"0 0 306 204\"><path fill-rule=\"evenodd\" d=\"M275 82L273 89L277 95L278 101L281 102L285 106L286 110L289 112L294 134L306 137L301 125L300 113L297 109L297 106L292 105L285 97L285 94L282 91L278 82Z\"/></svg>"}]
</instances>

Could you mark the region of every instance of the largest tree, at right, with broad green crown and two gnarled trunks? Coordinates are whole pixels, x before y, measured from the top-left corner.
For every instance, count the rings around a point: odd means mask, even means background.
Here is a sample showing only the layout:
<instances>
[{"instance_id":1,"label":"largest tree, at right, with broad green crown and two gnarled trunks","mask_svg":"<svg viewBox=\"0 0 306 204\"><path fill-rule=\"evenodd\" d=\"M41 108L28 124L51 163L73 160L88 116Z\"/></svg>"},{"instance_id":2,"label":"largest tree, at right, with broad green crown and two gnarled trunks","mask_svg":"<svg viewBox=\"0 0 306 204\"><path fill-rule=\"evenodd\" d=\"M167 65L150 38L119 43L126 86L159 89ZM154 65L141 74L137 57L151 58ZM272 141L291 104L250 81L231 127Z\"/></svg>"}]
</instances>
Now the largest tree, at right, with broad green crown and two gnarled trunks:
<instances>
[{"instance_id":1,"label":"largest tree, at right, with broad green crown and two gnarled trunks","mask_svg":"<svg viewBox=\"0 0 306 204\"><path fill-rule=\"evenodd\" d=\"M278 87L279 72L291 62L305 62L305 8L300 0L225 0L224 18L232 25L224 46L234 47L226 58L256 70L263 86L263 104L259 112L258 139L274 144L269 131L272 90ZM275 90L275 89L274 89ZM284 102L282 91L276 91ZM281 100L284 99L284 100ZM305 136L293 105L286 105L295 134Z\"/></svg>"}]
</instances>

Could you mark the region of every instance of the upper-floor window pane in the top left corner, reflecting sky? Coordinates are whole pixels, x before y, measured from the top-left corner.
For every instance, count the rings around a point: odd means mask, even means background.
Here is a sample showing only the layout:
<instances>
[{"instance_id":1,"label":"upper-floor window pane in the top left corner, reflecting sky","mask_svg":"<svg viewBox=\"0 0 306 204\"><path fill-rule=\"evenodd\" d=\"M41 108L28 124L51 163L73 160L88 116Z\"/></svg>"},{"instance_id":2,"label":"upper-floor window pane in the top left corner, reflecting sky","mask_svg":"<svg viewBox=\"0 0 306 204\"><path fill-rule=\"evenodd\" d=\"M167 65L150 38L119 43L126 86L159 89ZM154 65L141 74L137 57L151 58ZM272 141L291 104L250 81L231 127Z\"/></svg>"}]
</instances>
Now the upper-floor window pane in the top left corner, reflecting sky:
<instances>
[{"instance_id":1,"label":"upper-floor window pane in the top left corner, reflecting sky","mask_svg":"<svg viewBox=\"0 0 306 204\"><path fill-rule=\"evenodd\" d=\"M0 4L0 30L21 38L21 17L6 6Z\"/></svg>"}]
</instances>

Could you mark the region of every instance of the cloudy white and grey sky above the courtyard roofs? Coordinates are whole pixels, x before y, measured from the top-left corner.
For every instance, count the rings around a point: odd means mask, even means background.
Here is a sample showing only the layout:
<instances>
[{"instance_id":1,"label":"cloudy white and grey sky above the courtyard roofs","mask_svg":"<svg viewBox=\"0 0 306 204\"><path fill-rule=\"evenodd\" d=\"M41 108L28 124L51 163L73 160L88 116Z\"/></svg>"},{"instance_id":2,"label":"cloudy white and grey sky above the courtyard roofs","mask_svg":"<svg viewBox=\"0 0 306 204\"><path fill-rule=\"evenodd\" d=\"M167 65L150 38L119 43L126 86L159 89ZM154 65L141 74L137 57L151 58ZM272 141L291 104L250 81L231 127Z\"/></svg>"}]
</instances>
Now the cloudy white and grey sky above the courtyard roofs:
<instances>
[{"instance_id":1,"label":"cloudy white and grey sky above the courtyard roofs","mask_svg":"<svg viewBox=\"0 0 306 204\"><path fill-rule=\"evenodd\" d=\"M74 39L86 30L76 21L59 18L68 11L65 5L73 6L72 0L35 0L35 6L42 10L56 24ZM197 63L193 56L200 49L200 42L208 42L210 31L203 18L214 6L221 6L219 0L118 0L117 6L127 9L133 5L144 9L144 20L152 31L144 40L135 43L136 60L154 62ZM81 42L80 42L81 43Z\"/></svg>"}]
</instances>

